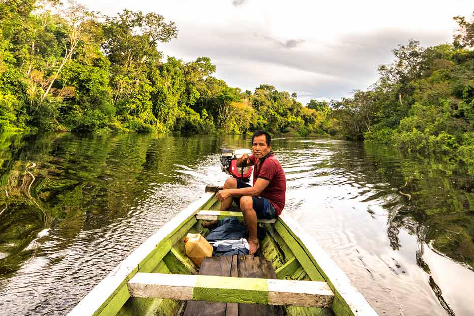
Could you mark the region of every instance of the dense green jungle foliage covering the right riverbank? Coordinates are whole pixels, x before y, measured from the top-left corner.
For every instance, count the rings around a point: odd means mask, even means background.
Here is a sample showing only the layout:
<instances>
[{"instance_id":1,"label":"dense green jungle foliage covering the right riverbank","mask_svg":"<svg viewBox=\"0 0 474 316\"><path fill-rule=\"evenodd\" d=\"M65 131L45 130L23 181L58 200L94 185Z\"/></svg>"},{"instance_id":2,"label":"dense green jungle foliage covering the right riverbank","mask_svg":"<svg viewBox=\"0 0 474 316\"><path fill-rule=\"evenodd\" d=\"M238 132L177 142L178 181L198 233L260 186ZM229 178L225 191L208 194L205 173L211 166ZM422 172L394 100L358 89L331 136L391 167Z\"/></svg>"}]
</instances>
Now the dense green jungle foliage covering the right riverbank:
<instances>
[{"instance_id":1,"label":"dense green jungle foliage covering the right riverbank","mask_svg":"<svg viewBox=\"0 0 474 316\"><path fill-rule=\"evenodd\" d=\"M474 12L471 22L454 20L453 44L399 45L395 61L379 66L380 78L367 91L333 102L345 138L445 155L474 172Z\"/></svg>"}]
</instances>

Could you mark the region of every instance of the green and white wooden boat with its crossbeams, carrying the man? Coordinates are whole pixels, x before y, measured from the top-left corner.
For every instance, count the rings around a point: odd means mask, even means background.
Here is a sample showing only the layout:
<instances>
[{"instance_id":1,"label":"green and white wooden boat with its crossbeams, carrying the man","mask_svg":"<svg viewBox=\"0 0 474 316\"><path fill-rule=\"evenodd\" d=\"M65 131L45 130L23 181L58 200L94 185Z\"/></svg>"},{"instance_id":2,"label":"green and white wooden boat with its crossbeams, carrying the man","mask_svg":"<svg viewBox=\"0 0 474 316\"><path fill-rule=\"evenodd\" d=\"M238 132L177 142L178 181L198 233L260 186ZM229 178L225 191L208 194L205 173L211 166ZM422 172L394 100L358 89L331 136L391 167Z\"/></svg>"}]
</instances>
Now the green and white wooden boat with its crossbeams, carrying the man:
<instances>
[{"instance_id":1,"label":"green and white wooden boat with its crossbeams, carrying the man","mask_svg":"<svg viewBox=\"0 0 474 316\"><path fill-rule=\"evenodd\" d=\"M239 278L234 272L198 275L199 268L185 254L186 234L207 234L203 220L237 216L243 221L241 212L220 212L219 206L215 193L205 193L125 258L69 316L183 315L191 302L201 301L221 302L204 304L224 304L226 316L242 315L239 311L249 304L279 307L281 315L290 316L377 315L314 238L285 212L258 224L267 231L260 241L260 260L271 262L276 279ZM235 257L228 261L235 262ZM211 314L220 315L216 309Z\"/></svg>"}]
</instances>

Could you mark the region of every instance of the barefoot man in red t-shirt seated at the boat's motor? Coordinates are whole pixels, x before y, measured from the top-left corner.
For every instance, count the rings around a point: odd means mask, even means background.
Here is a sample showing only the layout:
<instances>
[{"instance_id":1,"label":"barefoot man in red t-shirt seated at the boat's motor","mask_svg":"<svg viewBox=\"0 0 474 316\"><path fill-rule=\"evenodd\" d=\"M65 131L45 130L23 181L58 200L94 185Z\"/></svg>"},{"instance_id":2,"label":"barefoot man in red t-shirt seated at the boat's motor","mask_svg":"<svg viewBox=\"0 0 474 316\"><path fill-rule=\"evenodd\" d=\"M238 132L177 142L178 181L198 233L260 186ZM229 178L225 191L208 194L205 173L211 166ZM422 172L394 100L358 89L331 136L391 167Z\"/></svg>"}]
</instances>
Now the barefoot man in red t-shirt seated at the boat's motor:
<instances>
[{"instance_id":1,"label":"barefoot man in red t-shirt seated at the boat's motor","mask_svg":"<svg viewBox=\"0 0 474 316\"><path fill-rule=\"evenodd\" d=\"M250 254L254 254L260 244L257 238L257 219L273 219L281 214L285 206L286 178L280 162L271 152L271 136L256 131L252 136L252 155L237 159L237 167L254 165L253 186L228 178L224 189L217 192L221 201L221 211L227 210L233 201L240 205L248 225Z\"/></svg>"}]
</instances>

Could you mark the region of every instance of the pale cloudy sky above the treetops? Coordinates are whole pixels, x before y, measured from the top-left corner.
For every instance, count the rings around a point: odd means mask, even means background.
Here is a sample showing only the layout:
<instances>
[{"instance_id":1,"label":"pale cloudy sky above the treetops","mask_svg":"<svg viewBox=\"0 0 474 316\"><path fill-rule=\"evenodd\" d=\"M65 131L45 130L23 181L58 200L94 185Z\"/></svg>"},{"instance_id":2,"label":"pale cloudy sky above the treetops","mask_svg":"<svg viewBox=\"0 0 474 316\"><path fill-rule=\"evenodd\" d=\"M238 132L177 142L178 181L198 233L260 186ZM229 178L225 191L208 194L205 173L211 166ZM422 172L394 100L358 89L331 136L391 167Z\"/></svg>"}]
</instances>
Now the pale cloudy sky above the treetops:
<instances>
[{"instance_id":1,"label":"pale cloudy sky above the treetops","mask_svg":"<svg viewBox=\"0 0 474 316\"><path fill-rule=\"evenodd\" d=\"M339 99L374 83L377 66L410 38L451 42L453 16L471 17L472 0L78 0L115 15L156 12L178 27L164 55L208 56L230 86L260 84L310 99Z\"/></svg>"}]
</instances>

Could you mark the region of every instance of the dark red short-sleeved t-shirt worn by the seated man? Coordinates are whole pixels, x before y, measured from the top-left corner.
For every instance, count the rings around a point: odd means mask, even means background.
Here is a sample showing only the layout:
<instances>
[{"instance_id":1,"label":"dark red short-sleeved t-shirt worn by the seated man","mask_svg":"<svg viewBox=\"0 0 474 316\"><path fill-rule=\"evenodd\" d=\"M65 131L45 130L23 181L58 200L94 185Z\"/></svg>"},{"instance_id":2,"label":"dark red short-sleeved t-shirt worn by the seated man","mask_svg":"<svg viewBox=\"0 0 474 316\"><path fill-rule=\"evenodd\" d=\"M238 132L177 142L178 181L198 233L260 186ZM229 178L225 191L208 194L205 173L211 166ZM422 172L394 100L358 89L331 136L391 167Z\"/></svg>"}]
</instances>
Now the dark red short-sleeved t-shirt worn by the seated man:
<instances>
[{"instance_id":1,"label":"dark red short-sleeved t-shirt worn by the seated man","mask_svg":"<svg viewBox=\"0 0 474 316\"><path fill-rule=\"evenodd\" d=\"M286 177L280 161L273 154L268 154L262 165L260 165L260 159L257 159L254 155L250 156L250 161L255 165L253 168L253 185L255 185L257 178L270 181L260 196L267 198L275 207L277 214L280 215L285 207L286 192Z\"/></svg>"}]
</instances>

